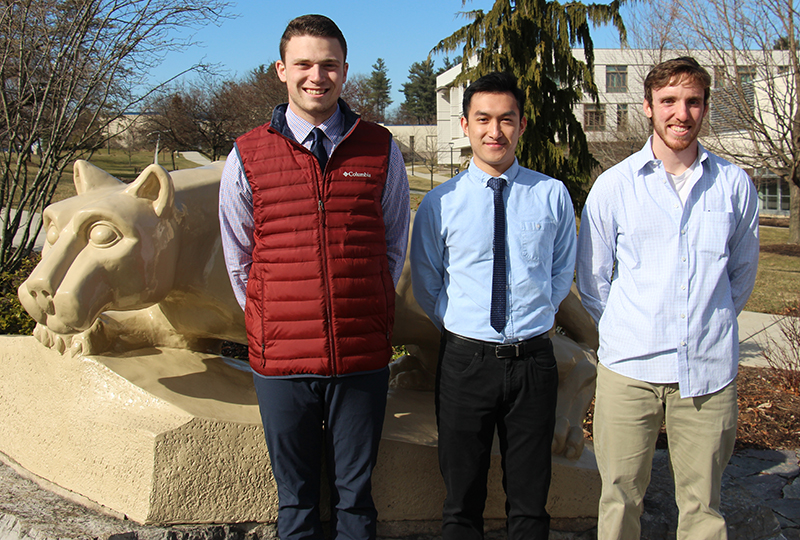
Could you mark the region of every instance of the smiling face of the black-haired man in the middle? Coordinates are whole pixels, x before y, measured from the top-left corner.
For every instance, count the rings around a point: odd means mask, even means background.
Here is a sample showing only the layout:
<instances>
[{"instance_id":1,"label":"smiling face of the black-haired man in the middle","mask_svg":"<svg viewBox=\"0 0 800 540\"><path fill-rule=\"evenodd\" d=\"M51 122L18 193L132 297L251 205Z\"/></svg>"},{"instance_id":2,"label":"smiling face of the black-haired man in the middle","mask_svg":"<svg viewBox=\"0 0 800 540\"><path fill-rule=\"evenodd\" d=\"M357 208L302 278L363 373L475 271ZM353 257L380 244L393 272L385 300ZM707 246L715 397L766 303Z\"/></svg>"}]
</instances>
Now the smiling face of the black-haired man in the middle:
<instances>
[{"instance_id":1,"label":"smiling face of the black-haired man in the middle","mask_svg":"<svg viewBox=\"0 0 800 540\"><path fill-rule=\"evenodd\" d=\"M461 129L469 137L475 164L483 172L499 176L514 164L514 152L527 119L510 93L476 92Z\"/></svg>"}]
</instances>

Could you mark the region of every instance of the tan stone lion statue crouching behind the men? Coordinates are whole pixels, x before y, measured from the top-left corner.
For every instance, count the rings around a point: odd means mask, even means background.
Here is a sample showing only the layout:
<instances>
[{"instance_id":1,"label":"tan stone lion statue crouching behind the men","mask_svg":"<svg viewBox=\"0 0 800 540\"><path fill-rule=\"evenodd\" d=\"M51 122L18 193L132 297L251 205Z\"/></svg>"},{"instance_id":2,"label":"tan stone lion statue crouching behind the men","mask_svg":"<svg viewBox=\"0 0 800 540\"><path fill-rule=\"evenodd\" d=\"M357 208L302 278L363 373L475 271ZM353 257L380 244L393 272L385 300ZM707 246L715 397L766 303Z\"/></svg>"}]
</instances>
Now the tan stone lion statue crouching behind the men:
<instances>
[{"instance_id":1,"label":"tan stone lion statue crouching behind the men","mask_svg":"<svg viewBox=\"0 0 800 540\"><path fill-rule=\"evenodd\" d=\"M168 173L150 165L126 184L76 161L77 195L43 215L42 260L19 288L42 344L71 354L147 347L218 352L246 343L244 314L225 270L217 219L222 162ZM397 286L394 344L408 354L392 385L433 389L439 332L416 303L409 261ZM553 452L577 458L594 394L594 323L573 291L553 334L559 398Z\"/></svg>"}]
</instances>

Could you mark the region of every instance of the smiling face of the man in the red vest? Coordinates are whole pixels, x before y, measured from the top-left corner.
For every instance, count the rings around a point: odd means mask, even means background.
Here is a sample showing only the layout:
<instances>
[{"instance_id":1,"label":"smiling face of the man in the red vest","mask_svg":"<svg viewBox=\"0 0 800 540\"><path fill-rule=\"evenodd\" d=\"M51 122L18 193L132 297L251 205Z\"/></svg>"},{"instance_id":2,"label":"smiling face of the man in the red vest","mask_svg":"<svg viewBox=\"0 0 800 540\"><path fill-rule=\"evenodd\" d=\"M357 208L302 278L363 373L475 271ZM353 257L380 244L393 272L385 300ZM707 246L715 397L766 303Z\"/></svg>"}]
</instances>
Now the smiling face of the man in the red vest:
<instances>
[{"instance_id":1,"label":"smiling face of the man in the red vest","mask_svg":"<svg viewBox=\"0 0 800 540\"><path fill-rule=\"evenodd\" d=\"M295 36L286 44L283 60L275 62L278 77L289 91L289 107L318 126L336 112L347 78L347 63L338 40Z\"/></svg>"}]
</instances>

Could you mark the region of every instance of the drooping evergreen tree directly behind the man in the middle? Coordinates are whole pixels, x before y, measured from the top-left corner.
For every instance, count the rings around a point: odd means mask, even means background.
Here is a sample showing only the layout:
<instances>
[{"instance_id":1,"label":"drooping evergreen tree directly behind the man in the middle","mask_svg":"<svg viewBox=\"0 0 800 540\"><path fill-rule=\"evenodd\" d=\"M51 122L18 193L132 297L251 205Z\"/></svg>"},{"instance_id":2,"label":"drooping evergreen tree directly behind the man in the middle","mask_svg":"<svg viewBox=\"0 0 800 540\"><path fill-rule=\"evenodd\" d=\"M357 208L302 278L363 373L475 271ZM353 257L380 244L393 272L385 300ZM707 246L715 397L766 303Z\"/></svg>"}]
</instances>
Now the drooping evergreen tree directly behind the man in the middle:
<instances>
[{"instance_id":1,"label":"drooping evergreen tree directly behind the man in the middle","mask_svg":"<svg viewBox=\"0 0 800 540\"><path fill-rule=\"evenodd\" d=\"M567 185L576 207L585 199L586 185L597 162L573 107L584 92L596 98L592 24L611 23L625 41L619 8L609 4L555 0L497 0L488 13L465 13L469 24L443 39L434 52L460 50L474 65L462 64L456 84L492 71L515 75L525 92L528 127L520 138L520 164L558 178ZM586 62L572 56L583 46Z\"/></svg>"}]
</instances>

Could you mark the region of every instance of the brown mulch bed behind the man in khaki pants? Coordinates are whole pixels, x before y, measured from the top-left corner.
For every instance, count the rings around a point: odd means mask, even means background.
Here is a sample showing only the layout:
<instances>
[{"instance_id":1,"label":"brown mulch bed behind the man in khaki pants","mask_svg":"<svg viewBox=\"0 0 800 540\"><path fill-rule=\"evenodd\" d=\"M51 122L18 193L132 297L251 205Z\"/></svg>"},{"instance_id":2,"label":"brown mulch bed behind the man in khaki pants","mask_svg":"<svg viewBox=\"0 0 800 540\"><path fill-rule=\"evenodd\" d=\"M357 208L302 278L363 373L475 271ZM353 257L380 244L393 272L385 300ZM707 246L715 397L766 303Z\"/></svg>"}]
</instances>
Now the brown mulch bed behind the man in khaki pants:
<instances>
[{"instance_id":1,"label":"brown mulch bed behind the man in khaki pants","mask_svg":"<svg viewBox=\"0 0 800 540\"><path fill-rule=\"evenodd\" d=\"M800 395L782 386L781 371L739 366L739 425L736 450L800 448ZM594 402L589 408L584 431L591 439ZM657 448L667 447L661 428Z\"/></svg>"}]
</instances>

